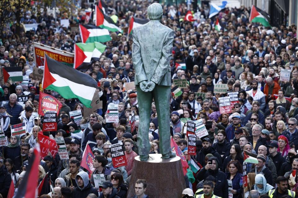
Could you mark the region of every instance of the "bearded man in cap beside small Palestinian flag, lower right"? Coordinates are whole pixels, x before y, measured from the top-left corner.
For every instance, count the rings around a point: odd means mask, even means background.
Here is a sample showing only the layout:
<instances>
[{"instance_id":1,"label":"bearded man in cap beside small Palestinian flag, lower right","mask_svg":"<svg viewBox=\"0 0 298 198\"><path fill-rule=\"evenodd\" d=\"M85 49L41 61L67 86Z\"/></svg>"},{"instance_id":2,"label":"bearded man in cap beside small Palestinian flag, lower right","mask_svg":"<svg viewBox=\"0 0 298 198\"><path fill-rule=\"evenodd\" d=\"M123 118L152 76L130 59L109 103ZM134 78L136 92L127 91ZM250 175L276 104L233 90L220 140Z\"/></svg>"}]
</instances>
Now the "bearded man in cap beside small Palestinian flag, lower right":
<instances>
[{"instance_id":1,"label":"bearded man in cap beside small Palestinian flag, lower right","mask_svg":"<svg viewBox=\"0 0 298 198\"><path fill-rule=\"evenodd\" d=\"M269 170L269 168L265 166L265 162L266 162L265 156L263 154L259 154L257 156L257 159L259 163L255 164L255 168L251 170L251 173L264 175L267 183L273 186L272 173Z\"/></svg>"}]
</instances>

